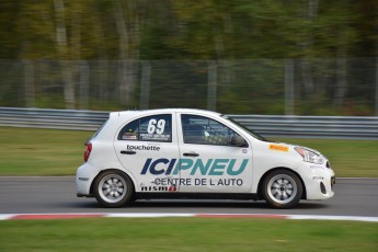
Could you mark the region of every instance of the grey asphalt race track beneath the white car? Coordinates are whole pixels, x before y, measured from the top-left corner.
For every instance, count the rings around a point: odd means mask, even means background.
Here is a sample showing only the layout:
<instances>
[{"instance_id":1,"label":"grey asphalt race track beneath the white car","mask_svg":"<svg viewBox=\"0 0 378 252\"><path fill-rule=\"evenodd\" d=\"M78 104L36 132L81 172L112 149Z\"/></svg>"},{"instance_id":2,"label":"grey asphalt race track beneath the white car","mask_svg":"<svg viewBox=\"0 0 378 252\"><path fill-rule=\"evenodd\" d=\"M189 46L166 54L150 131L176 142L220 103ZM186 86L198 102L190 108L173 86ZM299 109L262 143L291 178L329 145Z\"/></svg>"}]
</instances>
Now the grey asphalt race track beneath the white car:
<instances>
[{"instance_id":1,"label":"grey asphalt race track beneath the white car","mask_svg":"<svg viewBox=\"0 0 378 252\"><path fill-rule=\"evenodd\" d=\"M294 209L272 209L264 202L138 201L123 208L103 208L94 198L78 198L73 176L0 176L0 214L201 213L378 217L378 179L337 179L335 196L301 201Z\"/></svg>"}]
</instances>

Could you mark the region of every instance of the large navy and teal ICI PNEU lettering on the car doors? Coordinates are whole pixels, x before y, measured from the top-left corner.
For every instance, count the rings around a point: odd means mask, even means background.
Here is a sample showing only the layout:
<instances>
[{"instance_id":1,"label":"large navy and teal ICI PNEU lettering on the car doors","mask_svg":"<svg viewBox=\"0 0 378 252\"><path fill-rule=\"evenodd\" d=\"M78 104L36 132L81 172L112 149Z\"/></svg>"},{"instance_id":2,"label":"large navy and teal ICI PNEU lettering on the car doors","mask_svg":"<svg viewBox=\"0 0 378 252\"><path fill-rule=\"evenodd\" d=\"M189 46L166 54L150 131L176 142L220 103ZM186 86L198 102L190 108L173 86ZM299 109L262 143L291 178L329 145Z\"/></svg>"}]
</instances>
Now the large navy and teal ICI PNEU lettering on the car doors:
<instances>
[{"instance_id":1,"label":"large navy and teal ICI PNEU lettering on the car doors","mask_svg":"<svg viewBox=\"0 0 378 252\"><path fill-rule=\"evenodd\" d=\"M188 170L191 175L224 175L231 176L241 174L248 163L248 159L238 161L237 159L147 159L140 174L153 175L176 175L180 170Z\"/></svg>"}]
</instances>

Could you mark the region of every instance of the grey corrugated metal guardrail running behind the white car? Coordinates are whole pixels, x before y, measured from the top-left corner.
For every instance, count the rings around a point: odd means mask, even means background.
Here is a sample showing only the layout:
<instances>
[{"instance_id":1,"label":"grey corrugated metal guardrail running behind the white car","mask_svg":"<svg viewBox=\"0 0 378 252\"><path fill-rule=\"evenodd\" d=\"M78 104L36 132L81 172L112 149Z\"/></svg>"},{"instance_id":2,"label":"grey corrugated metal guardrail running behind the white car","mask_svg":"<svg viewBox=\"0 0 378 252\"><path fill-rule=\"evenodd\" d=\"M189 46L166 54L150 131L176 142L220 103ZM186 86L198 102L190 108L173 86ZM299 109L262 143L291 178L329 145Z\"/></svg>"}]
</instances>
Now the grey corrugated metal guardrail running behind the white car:
<instances>
[{"instance_id":1,"label":"grey corrugated metal guardrail running behind the white car","mask_svg":"<svg viewBox=\"0 0 378 252\"><path fill-rule=\"evenodd\" d=\"M229 115L266 137L378 139L378 117ZM0 107L0 126L96 130L108 112Z\"/></svg>"}]
</instances>

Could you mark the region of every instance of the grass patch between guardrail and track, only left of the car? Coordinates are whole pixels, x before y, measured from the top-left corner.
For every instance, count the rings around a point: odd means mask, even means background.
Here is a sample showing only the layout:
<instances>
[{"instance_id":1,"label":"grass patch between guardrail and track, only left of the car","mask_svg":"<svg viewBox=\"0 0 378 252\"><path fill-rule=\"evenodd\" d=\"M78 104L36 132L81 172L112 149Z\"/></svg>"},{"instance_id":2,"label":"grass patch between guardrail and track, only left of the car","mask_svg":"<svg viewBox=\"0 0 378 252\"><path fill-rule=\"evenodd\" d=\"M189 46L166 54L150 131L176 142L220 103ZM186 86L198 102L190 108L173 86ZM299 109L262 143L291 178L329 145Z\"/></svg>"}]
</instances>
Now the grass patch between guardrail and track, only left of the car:
<instances>
[{"instance_id":1,"label":"grass patch between guardrail and track, only left of the car","mask_svg":"<svg viewBox=\"0 0 378 252\"><path fill-rule=\"evenodd\" d=\"M73 175L93 131L0 127L0 175Z\"/></svg>"}]
</instances>

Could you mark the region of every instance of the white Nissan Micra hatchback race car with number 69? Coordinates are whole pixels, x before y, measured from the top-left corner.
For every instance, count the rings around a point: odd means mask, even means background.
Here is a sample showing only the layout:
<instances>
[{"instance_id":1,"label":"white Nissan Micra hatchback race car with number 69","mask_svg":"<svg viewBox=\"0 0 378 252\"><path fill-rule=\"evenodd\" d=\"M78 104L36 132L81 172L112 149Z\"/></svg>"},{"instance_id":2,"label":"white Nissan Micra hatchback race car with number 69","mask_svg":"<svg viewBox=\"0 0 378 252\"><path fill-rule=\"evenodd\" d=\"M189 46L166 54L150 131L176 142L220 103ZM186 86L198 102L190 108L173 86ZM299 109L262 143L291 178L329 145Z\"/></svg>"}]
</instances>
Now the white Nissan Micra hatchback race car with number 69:
<instances>
[{"instance_id":1,"label":"white Nissan Micra hatchback race car with number 69","mask_svg":"<svg viewBox=\"0 0 378 252\"><path fill-rule=\"evenodd\" d=\"M267 141L201 110L110 113L87 142L77 195L106 207L139 198L265 199L275 208L333 196L334 172L316 150Z\"/></svg>"}]
</instances>

